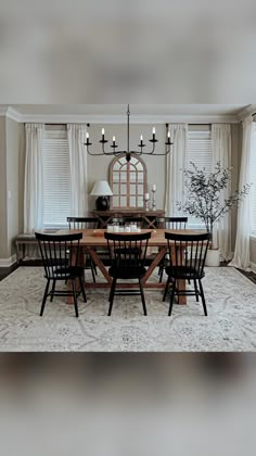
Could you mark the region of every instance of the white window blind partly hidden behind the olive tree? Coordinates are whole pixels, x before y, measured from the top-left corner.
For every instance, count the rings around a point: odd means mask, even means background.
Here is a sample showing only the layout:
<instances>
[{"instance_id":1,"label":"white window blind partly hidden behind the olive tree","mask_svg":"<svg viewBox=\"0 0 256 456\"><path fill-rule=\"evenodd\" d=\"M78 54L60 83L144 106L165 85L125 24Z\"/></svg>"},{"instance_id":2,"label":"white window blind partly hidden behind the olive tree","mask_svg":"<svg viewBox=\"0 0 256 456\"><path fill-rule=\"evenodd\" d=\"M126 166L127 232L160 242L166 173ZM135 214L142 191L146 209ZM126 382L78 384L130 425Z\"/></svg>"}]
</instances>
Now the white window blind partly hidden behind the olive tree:
<instances>
[{"instance_id":1,"label":"white window blind partly hidden behind the olive tree","mask_svg":"<svg viewBox=\"0 0 256 456\"><path fill-rule=\"evenodd\" d=\"M206 173L213 172L213 143L209 125L191 125L189 127L187 169L191 167L191 162L200 169L205 168ZM205 228L203 220L195 217L189 218L189 226L194 229Z\"/></svg>"}]
</instances>

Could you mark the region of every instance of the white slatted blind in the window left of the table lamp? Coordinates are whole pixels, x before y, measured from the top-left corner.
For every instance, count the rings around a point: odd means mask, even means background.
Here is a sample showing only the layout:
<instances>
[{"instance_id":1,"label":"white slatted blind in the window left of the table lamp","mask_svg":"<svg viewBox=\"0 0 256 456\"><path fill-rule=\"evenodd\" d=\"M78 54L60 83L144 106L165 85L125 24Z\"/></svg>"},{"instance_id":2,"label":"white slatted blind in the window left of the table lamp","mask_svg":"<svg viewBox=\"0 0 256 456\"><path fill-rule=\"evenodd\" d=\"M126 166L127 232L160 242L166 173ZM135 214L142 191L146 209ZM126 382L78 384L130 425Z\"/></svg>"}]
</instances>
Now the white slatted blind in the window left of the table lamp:
<instances>
[{"instance_id":1,"label":"white slatted blind in the window left of the table lamp","mask_svg":"<svg viewBox=\"0 0 256 456\"><path fill-rule=\"evenodd\" d=\"M43 226L65 227L71 215L71 173L66 130L46 130L43 138Z\"/></svg>"}]
</instances>

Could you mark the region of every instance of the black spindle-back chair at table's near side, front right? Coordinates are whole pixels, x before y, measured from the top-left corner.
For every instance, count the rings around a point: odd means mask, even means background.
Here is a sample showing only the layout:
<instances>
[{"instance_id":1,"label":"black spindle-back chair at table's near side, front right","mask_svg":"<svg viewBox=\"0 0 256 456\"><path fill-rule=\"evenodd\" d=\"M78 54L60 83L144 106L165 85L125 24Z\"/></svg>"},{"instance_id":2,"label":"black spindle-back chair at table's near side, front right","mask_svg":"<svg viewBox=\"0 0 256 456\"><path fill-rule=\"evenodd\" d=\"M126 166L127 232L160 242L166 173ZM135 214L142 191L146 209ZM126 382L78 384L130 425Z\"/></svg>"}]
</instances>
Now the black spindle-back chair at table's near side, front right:
<instances>
[{"instance_id":1,"label":"black spindle-back chair at table's near side, front right","mask_svg":"<svg viewBox=\"0 0 256 456\"><path fill-rule=\"evenodd\" d=\"M210 235L179 235L166 232L165 238L168 242L170 265L166 268L168 280L166 283L163 301L165 302L169 286L171 283L169 316L172 313L175 296L181 295L196 296L196 301L202 299L205 316L207 317L207 307L202 286L202 279L205 277L204 267L209 246ZM193 281L194 292L191 290L178 290L177 280Z\"/></svg>"}]
</instances>

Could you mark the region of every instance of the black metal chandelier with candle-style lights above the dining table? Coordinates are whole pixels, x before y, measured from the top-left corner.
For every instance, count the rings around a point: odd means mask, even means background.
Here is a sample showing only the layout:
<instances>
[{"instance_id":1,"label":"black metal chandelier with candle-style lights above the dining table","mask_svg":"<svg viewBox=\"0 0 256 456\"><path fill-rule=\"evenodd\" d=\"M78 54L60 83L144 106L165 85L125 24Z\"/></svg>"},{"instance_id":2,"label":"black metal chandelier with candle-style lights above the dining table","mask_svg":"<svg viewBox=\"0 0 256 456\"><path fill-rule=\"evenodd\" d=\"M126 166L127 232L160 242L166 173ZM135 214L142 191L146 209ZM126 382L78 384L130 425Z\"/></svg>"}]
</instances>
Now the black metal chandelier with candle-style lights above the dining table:
<instances>
[{"instance_id":1,"label":"black metal chandelier with candle-style lights above the dining table","mask_svg":"<svg viewBox=\"0 0 256 456\"><path fill-rule=\"evenodd\" d=\"M127 150L126 151L118 150L118 145L116 144L115 136L113 136L113 142L112 142L112 145L111 145L112 150L108 150L108 151L105 150L105 144L107 144L108 141L105 139L104 128L102 128L102 138L99 141L102 144L102 153L93 153L93 152L90 151L90 145L92 145L92 143L90 142L89 132L87 132L87 142L85 143L85 145L87 147L87 152L89 153L89 155L92 155L92 156L126 155L127 162L130 162L132 156L140 156L140 155L166 156L170 153L171 145L174 145L174 143L170 141L170 131L168 131L168 124L166 125L166 129L167 129L167 141L165 142L165 145L166 145L165 153L156 153L155 152L155 147L156 147L156 143L158 142L158 140L156 139L155 128L153 128L152 139L150 139L150 142L152 143L152 150L151 151L145 151L144 148L146 145L143 142L143 136L142 135L140 137L140 144L138 144L139 150L138 151L130 150L130 105L128 104L128 109L127 109Z\"/></svg>"}]
</instances>

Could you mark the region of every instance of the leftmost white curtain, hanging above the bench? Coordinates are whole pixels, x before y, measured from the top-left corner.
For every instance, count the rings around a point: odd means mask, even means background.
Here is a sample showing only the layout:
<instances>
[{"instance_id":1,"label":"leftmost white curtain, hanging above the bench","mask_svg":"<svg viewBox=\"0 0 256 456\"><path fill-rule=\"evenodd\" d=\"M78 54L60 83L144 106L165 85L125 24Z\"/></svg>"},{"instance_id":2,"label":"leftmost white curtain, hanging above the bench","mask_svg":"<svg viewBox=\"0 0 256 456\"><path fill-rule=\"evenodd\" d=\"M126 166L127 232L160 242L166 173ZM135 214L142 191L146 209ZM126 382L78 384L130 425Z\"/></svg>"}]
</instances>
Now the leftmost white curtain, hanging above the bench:
<instances>
[{"instance_id":1,"label":"leftmost white curtain, hanging above the bench","mask_svg":"<svg viewBox=\"0 0 256 456\"><path fill-rule=\"evenodd\" d=\"M24 232L43 229L43 124L26 124Z\"/></svg>"}]
</instances>

